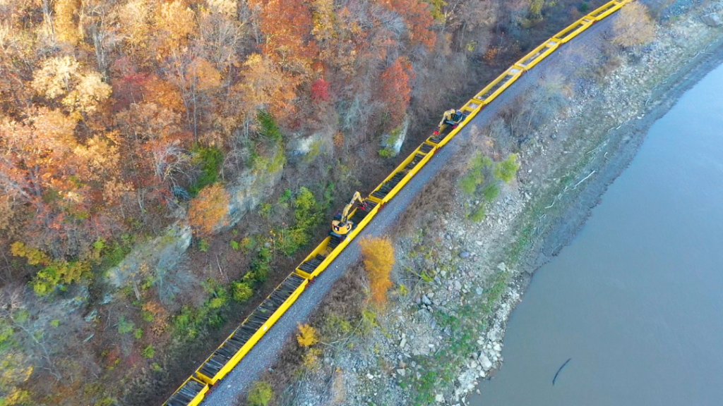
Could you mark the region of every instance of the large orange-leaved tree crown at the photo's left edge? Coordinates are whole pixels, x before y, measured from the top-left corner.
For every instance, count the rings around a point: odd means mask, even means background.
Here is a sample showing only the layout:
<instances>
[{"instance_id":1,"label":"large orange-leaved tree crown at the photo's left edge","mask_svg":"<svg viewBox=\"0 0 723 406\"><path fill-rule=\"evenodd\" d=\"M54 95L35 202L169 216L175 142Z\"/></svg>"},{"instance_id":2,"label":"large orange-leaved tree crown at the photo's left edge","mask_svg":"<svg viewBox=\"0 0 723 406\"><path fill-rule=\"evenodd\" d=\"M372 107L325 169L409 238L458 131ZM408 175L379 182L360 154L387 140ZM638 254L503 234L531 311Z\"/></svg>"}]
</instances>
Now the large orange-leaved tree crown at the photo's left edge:
<instances>
[{"instance_id":1,"label":"large orange-leaved tree crown at the photo's left edge","mask_svg":"<svg viewBox=\"0 0 723 406\"><path fill-rule=\"evenodd\" d=\"M118 149L100 135L80 142L76 125L47 108L0 123L0 194L33 212L26 217L28 245L57 256L81 254L107 235L105 191L124 189L116 178ZM105 197L113 201L113 194Z\"/></svg>"}]
</instances>

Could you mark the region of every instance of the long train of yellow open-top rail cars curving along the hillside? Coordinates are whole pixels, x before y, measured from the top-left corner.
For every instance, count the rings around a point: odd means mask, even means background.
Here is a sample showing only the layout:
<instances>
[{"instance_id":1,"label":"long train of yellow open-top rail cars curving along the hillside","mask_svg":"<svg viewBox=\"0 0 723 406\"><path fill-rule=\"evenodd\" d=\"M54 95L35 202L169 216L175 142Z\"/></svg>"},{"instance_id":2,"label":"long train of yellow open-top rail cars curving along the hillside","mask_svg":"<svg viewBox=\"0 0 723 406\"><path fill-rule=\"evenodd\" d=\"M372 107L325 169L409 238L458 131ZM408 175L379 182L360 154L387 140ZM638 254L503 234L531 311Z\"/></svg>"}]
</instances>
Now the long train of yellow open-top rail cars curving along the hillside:
<instances>
[{"instance_id":1,"label":"long train of yellow open-top rail cars curving along the hillside","mask_svg":"<svg viewBox=\"0 0 723 406\"><path fill-rule=\"evenodd\" d=\"M400 165L374 189L364 201L365 208L357 207L349 218L354 228L346 237L328 236L316 247L286 279L268 295L239 328L208 357L163 406L200 405L211 386L221 381L244 358L254 345L268 332L281 316L288 311L297 298L304 292L309 281L324 272L333 260L354 240L386 203L398 194L408 181L419 172L435 152L444 147L458 134L477 113L492 103L502 92L512 85L521 75L533 69L536 64L547 58L557 48L568 43L591 25L616 12L633 0L612 0L602 5L564 30L534 48L522 59L515 62L505 72L489 83L465 103L460 110L464 119L458 126L443 126L440 134L427 138Z\"/></svg>"}]
</instances>

